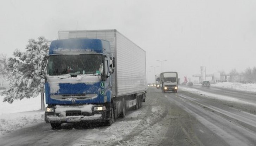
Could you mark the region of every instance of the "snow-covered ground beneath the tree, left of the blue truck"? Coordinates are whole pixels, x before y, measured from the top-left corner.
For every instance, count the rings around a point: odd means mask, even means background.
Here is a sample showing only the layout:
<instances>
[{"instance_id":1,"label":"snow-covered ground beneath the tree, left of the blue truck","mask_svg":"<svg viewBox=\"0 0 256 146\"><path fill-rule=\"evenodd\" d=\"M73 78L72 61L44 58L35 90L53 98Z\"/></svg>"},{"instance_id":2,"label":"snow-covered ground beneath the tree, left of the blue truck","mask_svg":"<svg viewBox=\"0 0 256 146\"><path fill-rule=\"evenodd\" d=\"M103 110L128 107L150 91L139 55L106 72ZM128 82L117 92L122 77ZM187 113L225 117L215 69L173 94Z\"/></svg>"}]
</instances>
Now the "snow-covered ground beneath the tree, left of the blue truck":
<instances>
[{"instance_id":1,"label":"snow-covered ground beneath the tree, left of the blue truck","mask_svg":"<svg viewBox=\"0 0 256 146\"><path fill-rule=\"evenodd\" d=\"M14 100L12 104L2 102L0 96L0 136L28 125L44 121L44 111L40 111L40 95L35 98Z\"/></svg>"}]
</instances>

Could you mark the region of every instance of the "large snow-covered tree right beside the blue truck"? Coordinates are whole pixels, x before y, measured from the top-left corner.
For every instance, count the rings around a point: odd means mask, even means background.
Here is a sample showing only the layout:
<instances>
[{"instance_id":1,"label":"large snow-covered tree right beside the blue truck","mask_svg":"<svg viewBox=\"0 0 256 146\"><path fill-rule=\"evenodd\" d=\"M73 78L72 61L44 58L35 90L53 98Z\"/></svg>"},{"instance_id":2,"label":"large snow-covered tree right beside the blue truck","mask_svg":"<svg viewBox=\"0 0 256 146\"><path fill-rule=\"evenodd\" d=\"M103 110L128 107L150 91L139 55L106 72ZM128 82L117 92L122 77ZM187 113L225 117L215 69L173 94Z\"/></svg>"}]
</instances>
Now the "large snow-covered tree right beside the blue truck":
<instances>
[{"instance_id":1,"label":"large snow-covered tree right beside the blue truck","mask_svg":"<svg viewBox=\"0 0 256 146\"><path fill-rule=\"evenodd\" d=\"M2 92L5 96L4 102L11 104L15 99L33 98L41 93L43 110L44 79L39 77L37 72L39 61L42 61L43 68L45 67L49 44L50 41L41 36L38 40L30 39L25 52L18 49L14 51L14 57L9 58L7 64L7 70L11 74L8 77L9 89Z\"/></svg>"}]
</instances>

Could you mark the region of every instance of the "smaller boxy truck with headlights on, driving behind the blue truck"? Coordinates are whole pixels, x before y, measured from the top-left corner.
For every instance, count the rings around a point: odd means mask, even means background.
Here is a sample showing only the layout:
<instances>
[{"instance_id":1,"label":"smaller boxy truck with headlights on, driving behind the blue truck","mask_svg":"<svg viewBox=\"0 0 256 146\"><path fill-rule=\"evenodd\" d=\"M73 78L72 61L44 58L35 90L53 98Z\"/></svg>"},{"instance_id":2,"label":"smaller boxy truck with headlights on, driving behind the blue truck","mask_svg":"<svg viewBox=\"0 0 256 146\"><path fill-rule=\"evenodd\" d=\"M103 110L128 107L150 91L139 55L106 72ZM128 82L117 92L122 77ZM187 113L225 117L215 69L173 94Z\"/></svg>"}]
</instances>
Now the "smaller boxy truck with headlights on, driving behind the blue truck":
<instances>
[{"instance_id":1,"label":"smaller boxy truck with headlights on, driving behind the blue truck","mask_svg":"<svg viewBox=\"0 0 256 146\"><path fill-rule=\"evenodd\" d=\"M172 91L177 93L179 78L177 72L163 72L160 73L160 85L162 85L162 92Z\"/></svg>"}]
</instances>

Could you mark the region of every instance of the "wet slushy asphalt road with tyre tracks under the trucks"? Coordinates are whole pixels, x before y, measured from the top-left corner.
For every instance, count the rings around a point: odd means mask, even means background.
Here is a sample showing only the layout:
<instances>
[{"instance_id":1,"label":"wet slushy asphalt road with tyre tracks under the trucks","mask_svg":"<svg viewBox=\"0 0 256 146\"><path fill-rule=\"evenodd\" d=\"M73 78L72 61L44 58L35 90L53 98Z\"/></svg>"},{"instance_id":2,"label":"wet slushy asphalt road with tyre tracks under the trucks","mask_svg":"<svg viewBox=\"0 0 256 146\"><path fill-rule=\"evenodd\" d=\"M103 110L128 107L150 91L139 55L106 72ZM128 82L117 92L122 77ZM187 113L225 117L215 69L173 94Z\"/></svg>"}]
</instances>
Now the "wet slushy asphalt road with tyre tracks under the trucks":
<instances>
[{"instance_id":1,"label":"wet slushy asphalt road with tyre tracks under the trucks","mask_svg":"<svg viewBox=\"0 0 256 146\"><path fill-rule=\"evenodd\" d=\"M203 94L187 92L190 88ZM41 122L0 137L0 146L255 146L254 103L254 94L212 87L184 86L178 93L149 87L142 108L110 127L64 125L52 130Z\"/></svg>"}]
</instances>

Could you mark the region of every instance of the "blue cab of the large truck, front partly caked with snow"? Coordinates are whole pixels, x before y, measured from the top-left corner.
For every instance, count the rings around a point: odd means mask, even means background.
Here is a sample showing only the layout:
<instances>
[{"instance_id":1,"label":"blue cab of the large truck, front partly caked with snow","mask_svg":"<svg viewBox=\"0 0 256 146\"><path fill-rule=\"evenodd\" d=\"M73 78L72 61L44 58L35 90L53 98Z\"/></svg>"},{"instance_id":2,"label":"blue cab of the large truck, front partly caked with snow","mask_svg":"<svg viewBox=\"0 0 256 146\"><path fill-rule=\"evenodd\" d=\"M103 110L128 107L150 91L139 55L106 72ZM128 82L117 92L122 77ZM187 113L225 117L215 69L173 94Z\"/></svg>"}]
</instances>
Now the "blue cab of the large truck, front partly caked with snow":
<instances>
[{"instance_id":1,"label":"blue cab of the large truck, front partly caked with snow","mask_svg":"<svg viewBox=\"0 0 256 146\"><path fill-rule=\"evenodd\" d=\"M45 68L45 121L113 122L114 58L109 41L62 39L51 42Z\"/></svg>"}]
</instances>

